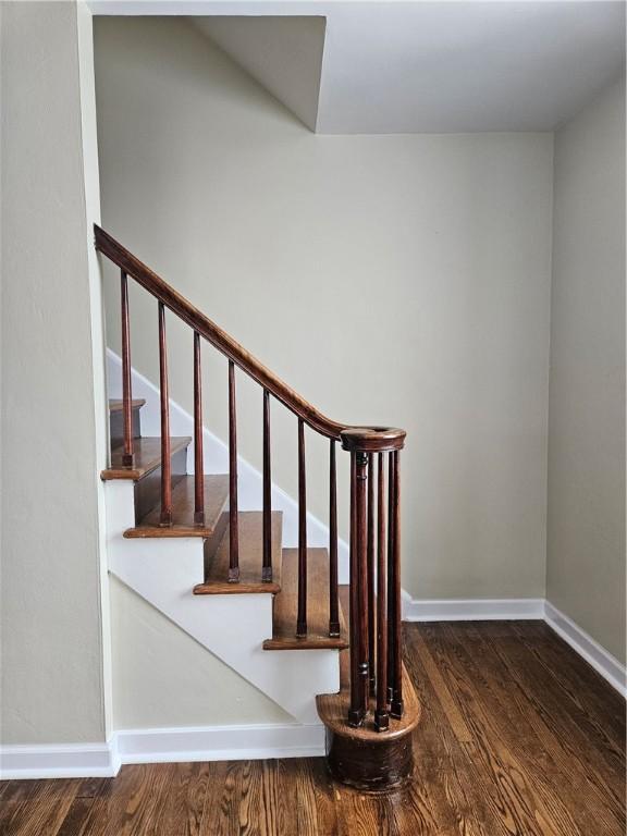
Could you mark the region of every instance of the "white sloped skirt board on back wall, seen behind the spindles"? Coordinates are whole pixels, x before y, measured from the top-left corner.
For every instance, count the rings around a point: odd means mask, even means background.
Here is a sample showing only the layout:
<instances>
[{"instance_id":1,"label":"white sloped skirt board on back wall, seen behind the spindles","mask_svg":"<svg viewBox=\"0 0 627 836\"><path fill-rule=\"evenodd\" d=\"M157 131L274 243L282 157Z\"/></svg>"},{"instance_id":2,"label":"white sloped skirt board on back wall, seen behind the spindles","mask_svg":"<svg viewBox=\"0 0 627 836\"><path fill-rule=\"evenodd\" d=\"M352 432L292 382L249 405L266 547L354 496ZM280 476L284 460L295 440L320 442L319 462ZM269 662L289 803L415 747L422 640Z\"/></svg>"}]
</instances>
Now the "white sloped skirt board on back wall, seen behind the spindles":
<instances>
[{"instance_id":1,"label":"white sloped skirt board on back wall, seen behind the spindles","mask_svg":"<svg viewBox=\"0 0 627 836\"><path fill-rule=\"evenodd\" d=\"M109 397L122 397L122 360L107 349L107 385ZM161 411L159 390L143 374L132 369L133 397L144 398L142 407L142 433L161 434ZM170 432L172 435L194 438L194 418L177 403L170 399ZM202 455L206 474L226 474L229 471L229 447L207 428L202 430ZM187 472L194 472L194 445L187 454ZM237 457L237 500L239 511L261 509L262 476L241 456ZM296 549L298 545L298 503L281 488L272 484L272 509L283 512L283 548ZM329 527L318 517L307 514L307 543L310 546L329 545ZM348 545L337 540L337 574L340 583L348 583Z\"/></svg>"}]
</instances>

